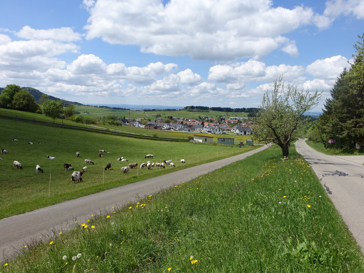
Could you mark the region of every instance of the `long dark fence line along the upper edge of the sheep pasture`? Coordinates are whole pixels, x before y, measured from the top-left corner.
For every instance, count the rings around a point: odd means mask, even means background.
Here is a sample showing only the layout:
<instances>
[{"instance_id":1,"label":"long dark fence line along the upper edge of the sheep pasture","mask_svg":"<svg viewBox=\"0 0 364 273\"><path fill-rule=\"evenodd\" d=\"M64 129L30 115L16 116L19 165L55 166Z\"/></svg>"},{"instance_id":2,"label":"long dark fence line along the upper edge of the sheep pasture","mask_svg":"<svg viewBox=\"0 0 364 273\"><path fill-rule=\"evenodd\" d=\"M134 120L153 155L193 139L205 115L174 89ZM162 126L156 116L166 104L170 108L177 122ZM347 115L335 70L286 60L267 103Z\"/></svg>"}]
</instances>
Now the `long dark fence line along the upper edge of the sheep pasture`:
<instances>
[{"instance_id":1,"label":"long dark fence line along the upper edge of the sheep pasture","mask_svg":"<svg viewBox=\"0 0 364 273\"><path fill-rule=\"evenodd\" d=\"M102 130L102 129L96 129L96 128L91 128L91 127L82 127L82 126L74 126L74 125L69 125L69 124L52 123L52 122L35 120L35 119L24 119L24 118L18 118L18 117L14 117L14 116L0 115L0 118L13 120L13 121L28 122L28 123L39 124L39 125L44 125L44 126L52 126L52 127L60 127L60 128L65 128L65 129L82 130L82 131L96 132L96 133L107 134L107 135L118 135L120 137L150 139L150 140L157 140L157 141L189 142L189 139L152 137L152 136L147 136L147 135L129 134L129 133L118 132L118 131L114 131L114 130L113 131Z\"/></svg>"}]
</instances>

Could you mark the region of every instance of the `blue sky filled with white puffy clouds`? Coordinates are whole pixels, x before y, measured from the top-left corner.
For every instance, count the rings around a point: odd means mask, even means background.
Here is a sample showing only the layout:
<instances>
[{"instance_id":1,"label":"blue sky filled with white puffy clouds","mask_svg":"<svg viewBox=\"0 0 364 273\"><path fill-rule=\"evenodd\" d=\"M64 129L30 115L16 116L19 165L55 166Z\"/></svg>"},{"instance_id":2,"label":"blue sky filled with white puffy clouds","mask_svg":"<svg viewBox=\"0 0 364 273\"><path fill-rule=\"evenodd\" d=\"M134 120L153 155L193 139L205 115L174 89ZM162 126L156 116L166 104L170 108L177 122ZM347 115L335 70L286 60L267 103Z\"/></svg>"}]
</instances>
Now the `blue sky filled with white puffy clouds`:
<instances>
[{"instance_id":1,"label":"blue sky filled with white puffy clouds","mask_svg":"<svg viewBox=\"0 0 364 273\"><path fill-rule=\"evenodd\" d=\"M320 111L364 32L360 0L13 0L0 10L0 87L84 104L258 107L283 75L323 91Z\"/></svg>"}]
</instances>

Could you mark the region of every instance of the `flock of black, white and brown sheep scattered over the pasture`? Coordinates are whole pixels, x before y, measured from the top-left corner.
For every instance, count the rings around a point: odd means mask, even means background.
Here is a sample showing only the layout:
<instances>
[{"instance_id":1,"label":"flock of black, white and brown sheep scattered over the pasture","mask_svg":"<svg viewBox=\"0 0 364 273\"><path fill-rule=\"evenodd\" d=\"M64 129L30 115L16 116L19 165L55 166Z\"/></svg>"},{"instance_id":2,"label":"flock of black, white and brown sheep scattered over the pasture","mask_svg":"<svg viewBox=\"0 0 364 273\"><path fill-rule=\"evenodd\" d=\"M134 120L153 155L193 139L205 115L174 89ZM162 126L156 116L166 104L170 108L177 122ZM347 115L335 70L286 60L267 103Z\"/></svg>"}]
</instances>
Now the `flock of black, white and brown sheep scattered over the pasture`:
<instances>
[{"instance_id":1,"label":"flock of black, white and brown sheep scattered over the pasture","mask_svg":"<svg viewBox=\"0 0 364 273\"><path fill-rule=\"evenodd\" d=\"M14 142L18 142L17 139L13 139ZM40 142L38 142L40 144ZM33 142L28 142L28 144L33 144ZM99 157L101 158L103 156L103 153L109 153L105 150L99 150ZM1 150L1 153L2 154L7 154L7 150L5 149L2 149ZM80 153L79 152L76 152L76 157L80 157ZM153 154L147 154L145 156L145 158L153 158L154 155ZM47 158L52 160L52 159L55 159L55 157L51 157L50 155L47 155ZM0 158L1 159L1 158ZM1 159L2 160L2 159ZM117 159L117 161L128 161L127 159L124 159L124 157L120 157ZM94 162L91 161L91 159L85 159L84 160L85 164L94 164ZM186 163L185 159L181 159L181 163ZM126 174L129 172L130 169L135 169L137 168L138 166L138 163L137 162L134 162L134 163L129 163L128 166L125 166L125 167L122 167L121 168L121 171ZM140 165L140 169L144 168L144 167L147 167L148 170L150 170L151 167L156 167L156 168L163 168L165 169L166 166L170 166L170 167L175 167L175 164L172 162L172 160L163 160L162 163L151 163L150 161L147 161L146 163L142 163ZM22 166L21 166L21 163L18 162L18 161L14 161L13 162L13 167L16 168L16 169L22 169ZM74 168L72 167L72 165L70 163L64 163L63 164L63 168L64 170L74 170ZM111 163L107 163L106 167L104 168L104 170L110 170L111 169ZM37 166L35 167L35 170L36 172L40 172L40 173L43 173L44 171L41 169L41 167L39 166L39 164L37 164ZM84 174L84 172L87 170L87 166L83 167L82 171L74 171L72 174L71 174L71 183L74 182L81 182L82 181L82 175Z\"/></svg>"}]
</instances>

